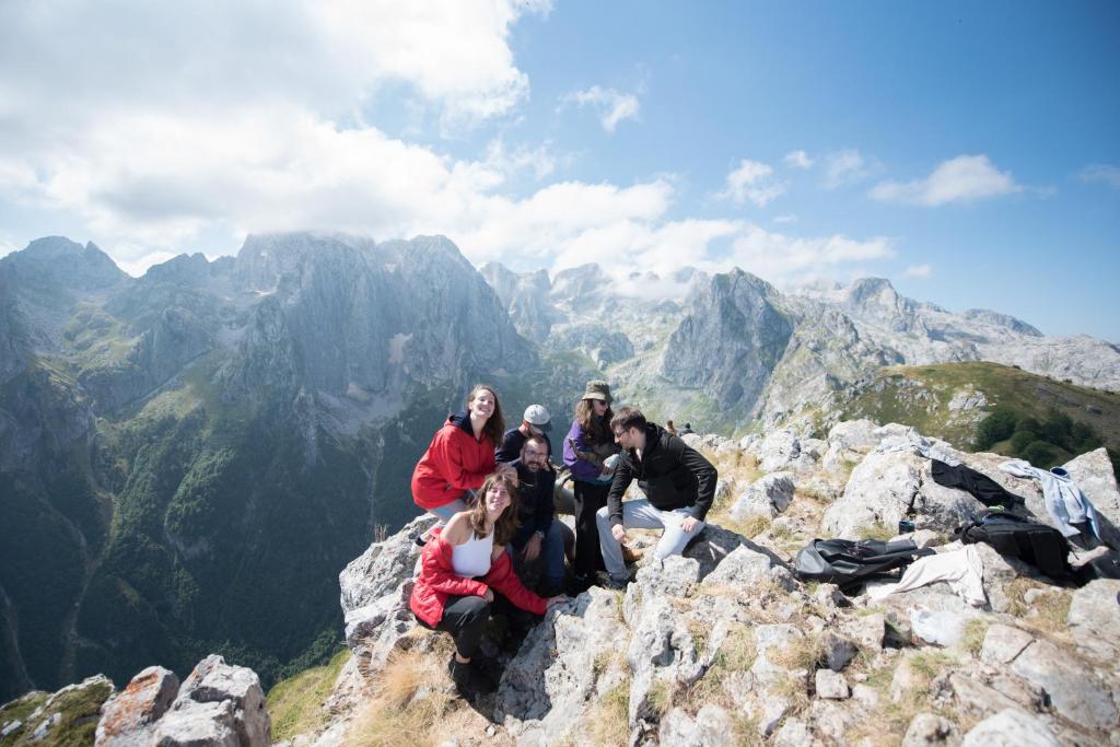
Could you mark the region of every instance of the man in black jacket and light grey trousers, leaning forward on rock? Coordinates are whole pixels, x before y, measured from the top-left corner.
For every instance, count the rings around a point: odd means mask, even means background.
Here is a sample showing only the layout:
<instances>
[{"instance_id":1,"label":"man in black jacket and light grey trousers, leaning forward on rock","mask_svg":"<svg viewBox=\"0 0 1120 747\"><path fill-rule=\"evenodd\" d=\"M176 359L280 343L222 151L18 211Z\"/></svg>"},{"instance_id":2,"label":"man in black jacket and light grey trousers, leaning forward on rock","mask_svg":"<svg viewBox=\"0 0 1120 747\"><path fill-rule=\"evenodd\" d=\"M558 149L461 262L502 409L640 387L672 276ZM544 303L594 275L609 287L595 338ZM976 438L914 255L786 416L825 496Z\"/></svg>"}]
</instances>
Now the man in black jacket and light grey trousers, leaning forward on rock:
<instances>
[{"instance_id":1,"label":"man in black jacket and light grey trousers, leaning forward on rock","mask_svg":"<svg viewBox=\"0 0 1120 747\"><path fill-rule=\"evenodd\" d=\"M628 581L620 542L627 529L664 529L654 551L659 560L680 554L704 526L716 497L718 474L710 461L655 423L636 408L622 408L610 429L623 451L615 467L607 505L596 513L599 547L609 586ZM623 502L634 479L646 497Z\"/></svg>"}]
</instances>

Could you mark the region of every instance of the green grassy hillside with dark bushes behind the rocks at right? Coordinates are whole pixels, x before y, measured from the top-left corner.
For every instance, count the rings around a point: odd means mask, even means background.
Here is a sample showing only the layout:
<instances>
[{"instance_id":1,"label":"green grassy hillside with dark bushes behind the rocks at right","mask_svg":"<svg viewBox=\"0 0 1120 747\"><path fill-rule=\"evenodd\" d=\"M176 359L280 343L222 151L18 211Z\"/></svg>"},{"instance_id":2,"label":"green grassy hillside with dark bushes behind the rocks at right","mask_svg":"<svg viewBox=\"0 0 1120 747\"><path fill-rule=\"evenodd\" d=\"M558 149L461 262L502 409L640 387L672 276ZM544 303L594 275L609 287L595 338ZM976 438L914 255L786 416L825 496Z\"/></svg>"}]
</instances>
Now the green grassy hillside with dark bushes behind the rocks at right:
<instances>
[{"instance_id":1,"label":"green grassy hillside with dark bushes behind the rocks at right","mask_svg":"<svg viewBox=\"0 0 1120 747\"><path fill-rule=\"evenodd\" d=\"M979 407L962 408L972 399ZM956 407L951 404L956 401ZM993 428L984 421L998 414ZM1077 386L997 363L943 363L892 366L862 387L843 408L842 419L898 422L943 438L959 448L984 448L1008 456L1060 464L1089 448L1107 446L1113 464L1120 455L1120 393ZM996 420L996 419L993 419ZM1034 432L1053 448L1027 450ZM981 435L983 433L983 435ZM998 438L992 438L995 435ZM1047 440L1048 439L1048 440Z\"/></svg>"}]
</instances>

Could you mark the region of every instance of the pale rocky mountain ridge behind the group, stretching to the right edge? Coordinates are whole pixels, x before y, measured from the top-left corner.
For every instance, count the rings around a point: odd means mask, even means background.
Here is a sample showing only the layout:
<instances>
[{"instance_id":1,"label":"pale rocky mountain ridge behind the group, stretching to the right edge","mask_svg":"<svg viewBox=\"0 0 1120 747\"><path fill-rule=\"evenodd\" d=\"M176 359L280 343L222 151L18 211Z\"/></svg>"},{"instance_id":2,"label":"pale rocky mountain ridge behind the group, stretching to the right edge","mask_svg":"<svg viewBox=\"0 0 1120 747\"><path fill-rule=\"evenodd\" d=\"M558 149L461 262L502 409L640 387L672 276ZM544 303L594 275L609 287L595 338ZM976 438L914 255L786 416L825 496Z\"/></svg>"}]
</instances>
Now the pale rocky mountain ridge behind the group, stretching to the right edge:
<instances>
[{"instance_id":1,"label":"pale rocky mountain ridge behind the group, stretching to the right edge","mask_svg":"<svg viewBox=\"0 0 1120 747\"><path fill-rule=\"evenodd\" d=\"M709 276L688 268L673 279L687 283L681 298L648 300L633 288L656 284L655 276L617 282L595 264L558 273L551 284L539 271L519 276L491 263L482 272L519 330L532 326L544 346L570 344L570 335L559 330L624 333L633 357L622 355L622 339L613 342L615 354L608 357L598 353L599 339L580 337L576 349L657 417L691 417L711 428L830 424L847 390L884 365L992 361L1120 389L1120 348L1111 343L1085 335L1047 337L986 309L954 315L900 296L883 278L782 292L738 269Z\"/></svg>"}]
</instances>

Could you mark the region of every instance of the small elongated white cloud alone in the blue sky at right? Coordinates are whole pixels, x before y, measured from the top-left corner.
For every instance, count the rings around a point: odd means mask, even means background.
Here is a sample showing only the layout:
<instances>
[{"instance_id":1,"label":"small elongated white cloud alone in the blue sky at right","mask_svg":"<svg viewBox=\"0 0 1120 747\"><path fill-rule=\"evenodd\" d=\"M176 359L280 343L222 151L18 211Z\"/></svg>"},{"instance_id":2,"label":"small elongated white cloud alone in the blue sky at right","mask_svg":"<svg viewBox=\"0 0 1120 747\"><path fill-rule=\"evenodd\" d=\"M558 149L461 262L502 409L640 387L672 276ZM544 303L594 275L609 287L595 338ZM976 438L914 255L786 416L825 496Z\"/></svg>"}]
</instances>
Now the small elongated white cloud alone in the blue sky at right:
<instances>
[{"instance_id":1,"label":"small elongated white cloud alone in the blue sky at right","mask_svg":"<svg viewBox=\"0 0 1120 747\"><path fill-rule=\"evenodd\" d=\"M958 156L943 161L924 179L883 181L870 196L885 203L935 207L970 203L1023 192L1010 171L1000 171L987 156Z\"/></svg>"}]
</instances>

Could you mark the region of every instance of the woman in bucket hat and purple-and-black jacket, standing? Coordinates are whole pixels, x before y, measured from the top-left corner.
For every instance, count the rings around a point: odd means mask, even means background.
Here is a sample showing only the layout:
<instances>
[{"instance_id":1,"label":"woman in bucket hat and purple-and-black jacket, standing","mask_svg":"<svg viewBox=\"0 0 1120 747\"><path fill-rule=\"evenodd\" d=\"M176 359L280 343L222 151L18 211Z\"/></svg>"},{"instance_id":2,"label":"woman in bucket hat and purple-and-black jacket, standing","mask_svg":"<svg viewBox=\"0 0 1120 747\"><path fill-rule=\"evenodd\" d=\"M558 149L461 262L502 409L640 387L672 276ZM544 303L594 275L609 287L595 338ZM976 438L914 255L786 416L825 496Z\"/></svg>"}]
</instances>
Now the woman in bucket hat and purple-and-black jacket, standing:
<instances>
[{"instance_id":1,"label":"woman in bucket hat and purple-and-black jacket, standing","mask_svg":"<svg viewBox=\"0 0 1120 747\"><path fill-rule=\"evenodd\" d=\"M604 568L595 512L607 505L610 491L612 469L605 461L618 452L610 432L612 401L607 382L587 382L563 443L563 463L575 478L576 585L585 588L595 581L595 572Z\"/></svg>"}]
</instances>

